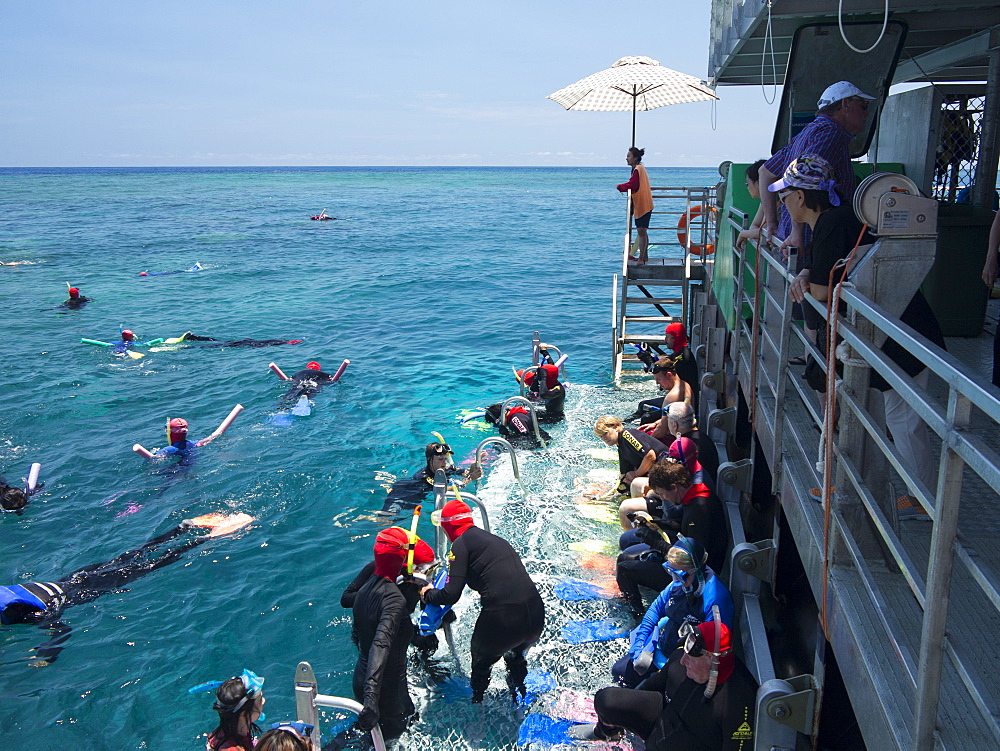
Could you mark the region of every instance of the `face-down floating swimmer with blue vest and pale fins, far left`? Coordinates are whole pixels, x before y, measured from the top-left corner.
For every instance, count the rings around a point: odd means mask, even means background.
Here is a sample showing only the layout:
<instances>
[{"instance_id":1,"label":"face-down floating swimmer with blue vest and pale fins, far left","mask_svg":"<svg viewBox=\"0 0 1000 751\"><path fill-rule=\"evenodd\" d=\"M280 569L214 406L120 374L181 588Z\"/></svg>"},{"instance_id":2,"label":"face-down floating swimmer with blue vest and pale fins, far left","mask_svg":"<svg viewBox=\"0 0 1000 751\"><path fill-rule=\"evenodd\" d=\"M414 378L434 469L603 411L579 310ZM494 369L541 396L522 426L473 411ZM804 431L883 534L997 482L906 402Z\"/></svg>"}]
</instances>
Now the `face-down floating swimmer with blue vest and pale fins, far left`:
<instances>
[{"instance_id":1,"label":"face-down floating swimmer with blue vest and pale fins, far left","mask_svg":"<svg viewBox=\"0 0 1000 751\"><path fill-rule=\"evenodd\" d=\"M213 537L231 534L254 520L247 514L206 514L185 519L169 532L153 537L135 550L129 550L105 563L92 564L77 569L55 582L29 582L0 587L0 623L33 623L51 630L52 638L35 648L35 667L55 661L70 636L70 626L63 623L63 611L72 605L95 600L108 592L120 591L126 585L173 563L192 548ZM177 547L160 550L195 527L210 531Z\"/></svg>"}]
</instances>

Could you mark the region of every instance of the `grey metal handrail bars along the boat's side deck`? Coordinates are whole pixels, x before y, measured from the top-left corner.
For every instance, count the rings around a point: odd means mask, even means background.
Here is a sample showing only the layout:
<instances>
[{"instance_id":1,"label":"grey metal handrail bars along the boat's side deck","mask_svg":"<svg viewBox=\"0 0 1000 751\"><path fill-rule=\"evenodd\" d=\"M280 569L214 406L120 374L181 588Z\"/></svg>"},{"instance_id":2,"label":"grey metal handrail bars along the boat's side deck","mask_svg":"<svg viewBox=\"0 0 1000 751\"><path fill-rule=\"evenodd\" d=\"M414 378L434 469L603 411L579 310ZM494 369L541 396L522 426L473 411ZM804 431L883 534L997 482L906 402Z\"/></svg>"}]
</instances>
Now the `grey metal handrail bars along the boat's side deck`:
<instances>
[{"instance_id":1,"label":"grey metal handrail bars along the boat's side deck","mask_svg":"<svg viewBox=\"0 0 1000 751\"><path fill-rule=\"evenodd\" d=\"M735 235L738 225L732 214L726 217L726 223ZM789 337L796 336L805 341L801 332L790 326L784 315L781 316L780 331L774 330L772 323L769 327L772 331L764 331L762 328L761 335L754 340L756 346L761 349L760 357L754 359L751 356L749 360L747 359L749 352L747 338L752 336L753 327L744 319L743 306L750 306L750 309L755 311L755 317L760 315L760 311L757 310L759 306L774 306L777 311L784 314L788 286L793 278L785 263L772 253L759 250L756 255L760 259L758 261L760 271L753 273L753 264L749 262L747 252L739 251L735 247L733 249L735 281L733 303L737 306L737 315L732 336L731 360L746 374L746 377L750 376L751 370L759 370L761 378L772 381L768 384L769 389L761 391L761 394L770 393L773 396L773 404L767 405L765 416L766 422L770 423L775 432L776 439L775 454L771 457L771 461L773 463L778 460L780 467L784 464L783 458L778 459L782 457L784 451L781 446L782 430L790 430L790 441L797 444L800 449L805 449L801 433L795 423L781 414L783 409L787 410L785 402L791 398L801 402L808 412L808 419L814 424L819 424L820 415L812 404L813 400L809 398L808 390L798 383L797 379L790 378L787 369L781 367L785 362L782 350L786 349ZM765 278L768 280L767 285L763 283ZM756 287L754 293L745 290L745 279L753 280ZM761 294L762 287L763 294ZM916 746L929 748L933 744L942 675L941 660L945 654L955 664L964 686L972 694L973 704L979 709L987 726L995 737L1000 738L1000 724L997 722L992 702L988 697L976 695L979 684L984 679L988 681L990 677L976 673L974 663L968 661L972 659L969 656L973 652L969 649L957 649L951 643L951 639L955 637L947 636L944 630L947 619L947 591L955 558L971 574L975 587L982 593L981 600L989 602L986 607L992 607L991 612L1000 612L1000 586L994 581L993 574L977 564L966 548L967 542L963 545L956 540L963 471L970 470L993 491L1000 493L1000 454L966 429L972 407L994 423L1000 422L1000 389L976 379L956 357L933 345L896 316L861 294L850 283L841 286L840 299L846 303L848 315L839 321L839 333L850 345L853 351L852 357L859 358L859 363L863 360L865 366L879 373L913 408L928 429L940 437L941 464L936 486L925 487L921 480L914 476L913 468L903 461L894 444L886 437L884 428L880 427L865 408L864 399L852 395L846 389L844 382L838 380L836 391L841 408L841 424L844 424L845 415L850 415L851 419L856 420L855 424L859 427L860 434L870 439L870 445L877 452L876 455L884 456L888 465L899 474L909 492L927 510L934 526L930 546L931 563L927 570L921 570L895 531L894 519L889 517L886 508L876 500L877 494L870 486L874 478L866 476L865 470L856 465L853 459L856 456L855 451L852 450L848 455L841 446L835 444L838 508L833 512L833 519L838 537L848 553L846 557L837 558L836 563L841 566L851 566L867 583L871 607L881 620L881 627L885 630L889 643L892 644L914 686L917 719L913 727L913 739ZM826 313L826 306L811 295L806 295L805 304L812 305L824 315ZM874 341L867 335L862 335L856 319L870 324L870 328L876 332L875 337L879 337L880 334L891 337L903 349L923 362L931 374L943 381L948 391L947 409L940 401L931 397L927 389L914 383L912 378L889 360ZM880 338L877 340L881 341ZM809 350L813 352L819 366L825 370L826 358L811 345ZM778 353L781 353L781 357L777 360L777 368L765 368L761 364L765 358L770 362L770 358ZM792 388L789 389L789 386ZM749 394L747 396L750 398ZM795 487L802 487L800 482L793 484ZM779 483L776 480L773 489L778 488ZM871 531L866 531L864 534L874 533L875 539L881 541L881 551L898 566L900 575L916 603L923 609L923 631L916 662L913 655L902 646L902 642L893 633L893 625L884 617L882 608L886 607L886 600L879 589L879 582L872 578L868 559L865 558L858 538L855 537L859 528L849 525L841 514L839 508L843 503L843 499L840 498L841 493L848 495L853 493L859 499L858 508L873 525ZM878 553L869 550L868 555L878 556ZM942 640L944 651L940 648ZM963 658L966 659L965 662Z\"/></svg>"}]
</instances>

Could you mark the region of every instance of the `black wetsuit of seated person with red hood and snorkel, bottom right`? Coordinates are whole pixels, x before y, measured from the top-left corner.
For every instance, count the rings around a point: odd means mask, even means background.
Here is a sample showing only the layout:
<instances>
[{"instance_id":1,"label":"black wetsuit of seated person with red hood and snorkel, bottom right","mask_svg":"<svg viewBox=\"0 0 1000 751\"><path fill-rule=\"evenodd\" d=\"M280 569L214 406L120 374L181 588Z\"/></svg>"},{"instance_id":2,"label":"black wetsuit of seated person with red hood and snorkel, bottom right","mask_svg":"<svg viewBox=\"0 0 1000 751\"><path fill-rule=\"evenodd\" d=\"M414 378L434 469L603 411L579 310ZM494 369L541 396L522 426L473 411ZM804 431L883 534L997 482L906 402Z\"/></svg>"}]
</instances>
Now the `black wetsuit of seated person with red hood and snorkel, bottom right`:
<instances>
[{"instance_id":1,"label":"black wetsuit of seated person with red hood and snorkel, bottom right","mask_svg":"<svg viewBox=\"0 0 1000 751\"><path fill-rule=\"evenodd\" d=\"M663 670L642 689L602 688L594 697L598 738L625 728L649 751L736 751L753 748L757 682L738 659L711 699L705 685L687 677L683 652L675 650ZM666 699L666 701L665 701Z\"/></svg>"}]
</instances>

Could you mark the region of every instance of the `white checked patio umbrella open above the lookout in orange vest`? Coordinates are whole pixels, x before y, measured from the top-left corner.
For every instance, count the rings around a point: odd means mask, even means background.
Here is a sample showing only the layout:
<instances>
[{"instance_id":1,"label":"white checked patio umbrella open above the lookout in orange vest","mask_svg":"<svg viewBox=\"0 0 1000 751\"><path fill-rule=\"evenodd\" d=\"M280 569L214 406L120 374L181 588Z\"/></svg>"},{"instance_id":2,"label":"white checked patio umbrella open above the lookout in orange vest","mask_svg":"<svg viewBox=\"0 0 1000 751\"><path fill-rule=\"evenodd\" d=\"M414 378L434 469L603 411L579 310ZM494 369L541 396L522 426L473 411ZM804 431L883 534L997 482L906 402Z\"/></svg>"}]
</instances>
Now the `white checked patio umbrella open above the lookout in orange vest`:
<instances>
[{"instance_id":1,"label":"white checked patio umbrella open above the lookout in orange vest","mask_svg":"<svg viewBox=\"0 0 1000 751\"><path fill-rule=\"evenodd\" d=\"M643 55L623 57L607 70L581 78L546 99L568 110L623 112L632 110L632 145L635 146L635 113L668 104L718 99L703 81L665 68Z\"/></svg>"}]
</instances>

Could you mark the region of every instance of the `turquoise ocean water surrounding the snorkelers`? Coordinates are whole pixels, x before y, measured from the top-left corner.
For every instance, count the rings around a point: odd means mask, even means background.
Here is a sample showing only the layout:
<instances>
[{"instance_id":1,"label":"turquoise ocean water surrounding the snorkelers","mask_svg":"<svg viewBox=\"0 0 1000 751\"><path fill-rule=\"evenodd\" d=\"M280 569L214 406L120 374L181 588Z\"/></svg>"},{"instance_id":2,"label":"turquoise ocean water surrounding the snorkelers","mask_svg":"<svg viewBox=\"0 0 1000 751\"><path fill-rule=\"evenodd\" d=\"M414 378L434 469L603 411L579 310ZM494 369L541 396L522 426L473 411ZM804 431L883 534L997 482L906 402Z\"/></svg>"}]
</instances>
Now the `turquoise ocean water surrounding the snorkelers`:
<instances>
[{"instance_id":1,"label":"turquoise ocean water surrounding the snorkelers","mask_svg":"<svg viewBox=\"0 0 1000 751\"><path fill-rule=\"evenodd\" d=\"M718 179L650 173L659 185ZM31 665L43 631L0 628L3 746L202 747L212 698L187 689L243 667L266 678L268 723L293 718L300 660L322 692L350 696L356 650L339 598L370 560L372 511L422 466L431 431L457 459L492 435L456 418L517 393L510 367L530 364L535 331L570 355L568 419L547 450L518 453L526 497L508 459L479 492L546 599L532 668L562 686L605 685L624 642L570 647L560 628L625 613L559 603L552 586L586 578L568 542L615 537L575 513L574 482L615 466L587 453L601 446L594 418L641 398L608 385L625 210L614 185L627 178L625 166L0 170L0 261L22 262L0 267L0 473L13 482L39 461L46 482L23 515L0 518L2 583L56 580L199 514L257 519L68 609L72 635L52 665ZM309 220L323 208L350 220ZM203 271L138 275L196 261ZM94 301L58 309L67 282ZM303 343L138 360L80 343L113 341L119 326L147 339L190 330ZM351 366L309 417L274 423L284 388L270 361L291 373L344 358ZM162 446L168 417L207 435L236 403L243 414L192 467L130 451ZM469 592L457 608L466 670L477 608ZM456 670L446 650L438 657ZM410 680L421 720L404 747L513 747L502 668L485 709L445 701L416 665ZM324 720L328 731L337 717Z\"/></svg>"}]
</instances>

